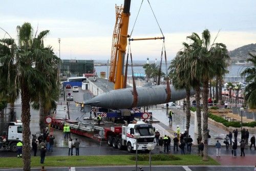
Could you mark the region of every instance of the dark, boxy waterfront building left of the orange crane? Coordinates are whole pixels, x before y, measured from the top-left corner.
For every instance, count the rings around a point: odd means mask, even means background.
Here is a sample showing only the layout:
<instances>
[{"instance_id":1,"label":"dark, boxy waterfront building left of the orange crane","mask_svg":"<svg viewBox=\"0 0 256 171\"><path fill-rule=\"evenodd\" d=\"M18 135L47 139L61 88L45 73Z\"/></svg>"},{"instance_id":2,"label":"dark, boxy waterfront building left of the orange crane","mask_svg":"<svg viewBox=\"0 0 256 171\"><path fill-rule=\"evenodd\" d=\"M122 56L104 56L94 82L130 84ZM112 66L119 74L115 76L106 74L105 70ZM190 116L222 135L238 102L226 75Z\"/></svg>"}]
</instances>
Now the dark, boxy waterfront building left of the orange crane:
<instances>
[{"instance_id":1,"label":"dark, boxy waterfront building left of the orange crane","mask_svg":"<svg viewBox=\"0 0 256 171\"><path fill-rule=\"evenodd\" d=\"M63 77L78 77L94 72L94 60L63 59L60 63L60 76Z\"/></svg>"}]
</instances>

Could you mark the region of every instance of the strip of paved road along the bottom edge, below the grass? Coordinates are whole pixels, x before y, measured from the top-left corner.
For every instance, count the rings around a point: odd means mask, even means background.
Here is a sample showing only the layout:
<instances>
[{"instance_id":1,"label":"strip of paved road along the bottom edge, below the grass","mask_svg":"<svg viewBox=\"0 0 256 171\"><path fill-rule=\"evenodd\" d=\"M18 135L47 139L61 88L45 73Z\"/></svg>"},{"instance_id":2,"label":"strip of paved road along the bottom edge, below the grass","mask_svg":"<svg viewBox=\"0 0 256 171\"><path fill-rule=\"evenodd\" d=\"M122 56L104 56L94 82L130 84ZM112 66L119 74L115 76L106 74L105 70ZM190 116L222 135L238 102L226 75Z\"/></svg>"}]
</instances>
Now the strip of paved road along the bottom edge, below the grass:
<instances>
[{"instance_id":1,"label":"strip of paved road along the bottom edge, below the grass","mask_svg":"<svg viewBox=\"0 0 256 171\"><path fill-rule=\"evenodd\" d=\"M144 171L150 170L149 166L142 166ZM152 166L152 171L252 171L253 166ZM47 167L47 171L132 171L135 170L135 166L93 166L93 167ZM20 171L22 168L15 169L0 169L0 170L12 170L12 171ZM40 168L32 168L32 171L40 170ZM138 169L139 170L139 169Z\"/></svg>"}]
</instances>

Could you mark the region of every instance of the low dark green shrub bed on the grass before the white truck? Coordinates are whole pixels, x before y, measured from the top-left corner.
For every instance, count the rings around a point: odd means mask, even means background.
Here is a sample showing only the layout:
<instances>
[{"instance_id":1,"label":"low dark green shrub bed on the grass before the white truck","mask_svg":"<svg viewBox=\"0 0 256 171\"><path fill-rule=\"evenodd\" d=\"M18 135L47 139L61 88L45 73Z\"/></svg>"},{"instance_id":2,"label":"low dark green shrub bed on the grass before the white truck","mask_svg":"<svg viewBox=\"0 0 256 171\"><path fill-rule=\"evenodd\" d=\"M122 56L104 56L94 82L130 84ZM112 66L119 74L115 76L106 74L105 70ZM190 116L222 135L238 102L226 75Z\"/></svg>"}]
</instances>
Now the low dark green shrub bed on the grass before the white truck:
<instances>
[{"instance_id":1,"label":"low dark green shrub bed on the grass before the white truck","mask_svg":"<svg viewBox=\"0 0 256 171\"><path fill-rule=\"evenodd\" d=\"M136 156L131 156L131 160L136 160ZM138 155L138 161L148 161L150 160L150 155ZM181 158L173 156L173 155L151 155L152 161L172 161L172 160L181 160Z\"/></svg>"}]
</instances>

